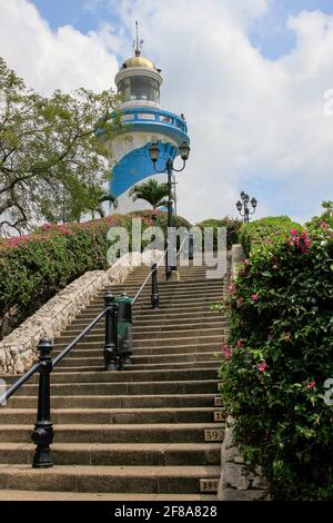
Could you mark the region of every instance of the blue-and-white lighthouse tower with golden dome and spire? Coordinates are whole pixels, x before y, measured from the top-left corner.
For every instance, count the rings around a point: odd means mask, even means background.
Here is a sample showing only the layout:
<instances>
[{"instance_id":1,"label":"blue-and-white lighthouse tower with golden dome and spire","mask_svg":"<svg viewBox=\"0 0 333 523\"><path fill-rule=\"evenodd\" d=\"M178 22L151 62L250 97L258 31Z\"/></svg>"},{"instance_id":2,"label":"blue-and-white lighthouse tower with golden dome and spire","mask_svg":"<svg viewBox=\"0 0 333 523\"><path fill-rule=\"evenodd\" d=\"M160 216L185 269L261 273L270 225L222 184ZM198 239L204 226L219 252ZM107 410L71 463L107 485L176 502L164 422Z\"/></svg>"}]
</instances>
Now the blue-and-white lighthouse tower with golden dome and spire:
<instances>
[{"instance_id":1,"label":"blue-and-white lighthouse tower with golden dome and spire","mask_svg":"<svg viewBox=\"0 0 333 523\"><path fill-rule=\"evenodd\" d=\"M183 116L165 111L160 107L161 70L141 56L142 41L138 36L134 56L125 60L115 76L118 93L122 102L124 132L112 140L112 177L110 193L118 198L118 213L149 207L142 200L133 201L129 196L131 187L154 176L165 181L167 175L157 175L149 156L149 147L157 142L160 148L158 169L163 169L168 158L179 155L179 146L190 142L188 126Z\"/></svg>"}]
</instances>

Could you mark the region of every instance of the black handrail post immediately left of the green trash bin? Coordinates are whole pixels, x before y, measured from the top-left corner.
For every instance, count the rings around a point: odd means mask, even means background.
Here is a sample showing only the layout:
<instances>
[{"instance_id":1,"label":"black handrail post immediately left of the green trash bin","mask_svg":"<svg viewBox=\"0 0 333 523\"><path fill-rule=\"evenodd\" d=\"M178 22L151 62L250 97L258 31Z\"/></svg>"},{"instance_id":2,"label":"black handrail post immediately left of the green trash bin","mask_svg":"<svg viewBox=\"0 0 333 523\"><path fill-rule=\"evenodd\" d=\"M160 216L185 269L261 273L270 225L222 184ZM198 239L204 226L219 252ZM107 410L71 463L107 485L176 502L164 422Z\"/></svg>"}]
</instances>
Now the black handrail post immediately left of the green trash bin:
<instances>
[{"instance_id":1,"label":"black handrail post immediately left of the green trash bin","mask_svg":"<svg viewBox=\"0 0 333 523\"><path fill-rule=\"evenodd\" d=\"M114 303L115 297L111 290L104 295L105 312L105 344L104 361L105 371L117 371L117 346L118 346L118 310Z\"/></svg>"}]
</instances>

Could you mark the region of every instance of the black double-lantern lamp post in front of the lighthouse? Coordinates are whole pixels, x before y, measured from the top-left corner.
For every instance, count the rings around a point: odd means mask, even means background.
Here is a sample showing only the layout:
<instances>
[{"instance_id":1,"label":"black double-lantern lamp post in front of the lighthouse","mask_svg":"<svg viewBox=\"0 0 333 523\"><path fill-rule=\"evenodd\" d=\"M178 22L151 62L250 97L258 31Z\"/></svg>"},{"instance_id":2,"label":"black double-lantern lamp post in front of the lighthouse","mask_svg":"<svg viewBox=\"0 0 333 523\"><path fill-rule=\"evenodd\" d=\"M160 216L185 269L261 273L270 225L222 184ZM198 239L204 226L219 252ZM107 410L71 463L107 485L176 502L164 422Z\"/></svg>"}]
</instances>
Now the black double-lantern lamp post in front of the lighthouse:
<instances>
[{"instance_id":1,"label":"black double-lantern lamp post in front of the lighthouse","mask_svg":"<svg viewBox=\"0 0 333 523\"><path fill-rule=\"evenodd\" d=\"M180 151L180 155L181 155L181 159L183 160L183 166L182 166L181 169L175 169L174 168L173 160L171 158L168 158L163 169L158 169L157 168L157 162L158 162L159 157L160 157L159 144L153 142L149 148L149 156L150 156L150 159L153 164L154 171L155 172L161 172L161 174L162 172L168 174L168 189L169 189L169 196L168 196L168 229L170 227L172 227L172 203L173 203L172 201L172 185L173 185L172 172L173 171L181 172L182 170L184 170L185 165L186 165L186 160L189 159L189 156L190 156L190 150L191 150L190 146L186 141L182 141L182 144L179 146L179 151ZM167 267L165 267L165 274L167 274L167 278L169 278L172 274L172 267L170 267L168 264L167 264Z\"/></svg>"}]
</instances>

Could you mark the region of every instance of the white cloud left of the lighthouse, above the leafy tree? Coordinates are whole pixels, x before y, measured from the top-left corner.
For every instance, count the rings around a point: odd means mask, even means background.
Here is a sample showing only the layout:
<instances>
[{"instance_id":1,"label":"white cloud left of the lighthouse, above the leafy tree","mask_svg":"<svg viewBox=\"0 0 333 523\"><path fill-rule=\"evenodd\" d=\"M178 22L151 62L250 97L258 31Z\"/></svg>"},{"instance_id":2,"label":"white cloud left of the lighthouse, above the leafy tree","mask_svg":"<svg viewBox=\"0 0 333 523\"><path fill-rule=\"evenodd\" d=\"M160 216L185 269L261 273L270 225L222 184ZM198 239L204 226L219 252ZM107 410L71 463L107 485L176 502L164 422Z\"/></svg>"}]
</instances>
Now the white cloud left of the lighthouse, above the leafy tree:
<instances>
[{"instance_id":1,"label":"white cloud left of the lighthouse, above the leafy tree","mask_svg":"<svg viewBox=\"0 0 333 523\"><path fill-rule=\"evenodd\" d=\"M43 93L113 85L117 38L110 27L82 34L71 26L52 32L27 0L0 0L0 53L27 83Z\"/></svg>"}]
</instances>

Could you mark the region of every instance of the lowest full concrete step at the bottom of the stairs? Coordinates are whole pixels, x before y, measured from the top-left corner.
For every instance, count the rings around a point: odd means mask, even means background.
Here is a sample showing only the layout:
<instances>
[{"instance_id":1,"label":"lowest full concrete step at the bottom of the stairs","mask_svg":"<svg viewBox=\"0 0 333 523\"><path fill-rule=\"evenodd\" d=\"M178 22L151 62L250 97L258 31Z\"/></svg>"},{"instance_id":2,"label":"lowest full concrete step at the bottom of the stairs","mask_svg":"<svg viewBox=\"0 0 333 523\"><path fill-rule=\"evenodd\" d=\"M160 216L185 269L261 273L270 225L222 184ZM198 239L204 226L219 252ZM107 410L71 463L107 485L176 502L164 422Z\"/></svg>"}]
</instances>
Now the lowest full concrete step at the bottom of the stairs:
<instances>
[{"instance_id":1,"label":"lowest full concrete step at the bottom of the stairs","mask_svg":"<svg viewBox=\"0 0 333 523\"><path fill-rule=\"evenodd\" d=\"M33 470L29 465L0 465L0 489L200 494L200 480L219 476L219 466L62 465Z\"/></svg>"}]
</instances>

